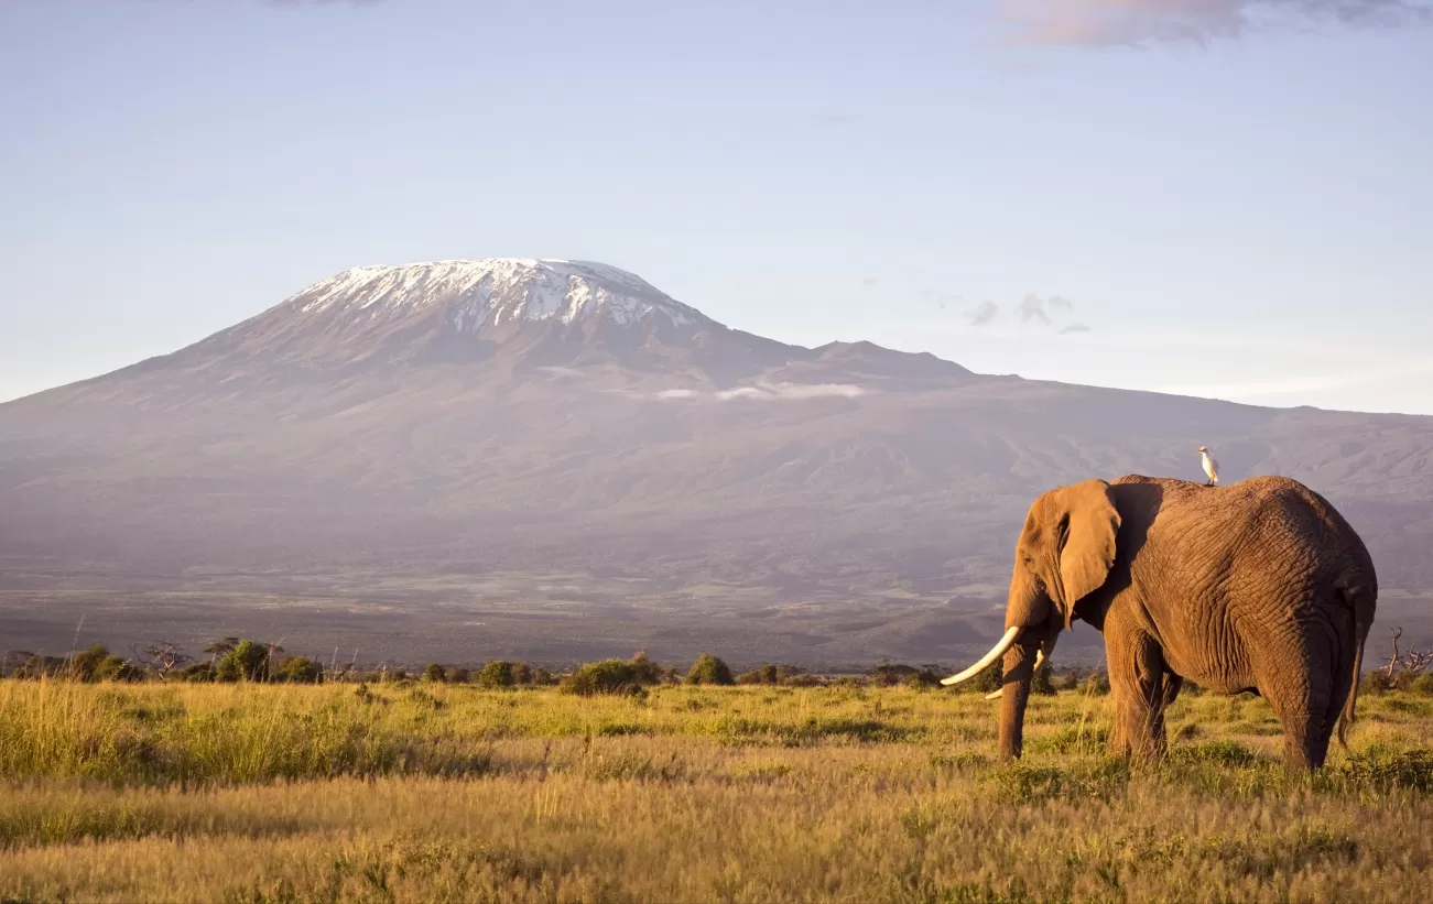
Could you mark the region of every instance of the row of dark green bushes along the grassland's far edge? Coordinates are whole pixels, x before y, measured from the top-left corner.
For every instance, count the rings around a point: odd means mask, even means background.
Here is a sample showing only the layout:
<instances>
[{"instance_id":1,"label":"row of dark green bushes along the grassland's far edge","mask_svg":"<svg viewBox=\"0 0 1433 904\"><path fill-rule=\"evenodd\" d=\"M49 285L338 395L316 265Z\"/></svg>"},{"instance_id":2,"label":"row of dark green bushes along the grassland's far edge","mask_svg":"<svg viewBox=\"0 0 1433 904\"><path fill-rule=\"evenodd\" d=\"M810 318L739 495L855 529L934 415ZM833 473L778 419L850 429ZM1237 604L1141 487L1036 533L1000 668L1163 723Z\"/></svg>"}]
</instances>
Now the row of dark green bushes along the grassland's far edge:
<instances>
[{"instance_id":1,"label":"row of dark green bushes along the grassland's far edge","mask_svg":"<svg viewBox=\"0 0 1433 904\"><path fill-rule=\"evenodd\" d=\"M59 679L79 682L262 682L262 683L388 683L431 682L474 685L484 689L556 686L565 693L632 693L661 685L767 685L781 688L820 686L906 686L919 691L940 688L943 673L934 665L911 666L880 660L868 672L821 675L800 666L767 663L741 673L719 656L702 653L685 672L661 665L639 652L631 659L602 659L579 665L570 672L553 673L526 662L494 659L480 666L443 665L430 662L421 670L404 666L358 668L355 663L327 666L310 656L287 655L277 643L262 643L241 638L225 638L203 648L203 658L193 658L175 643L138 645L132 656L120 656L103 643L96 643L69 656L46 656L26 650L11 650L0 659L0 678ZM1433 673L1424 673L1426 662L1416 665L1400 659L1381 669L1367 672L1360 682L1361 692L1413 691L1433 695ZM990 693L1000 688L1000 663L996 662L973 681L954 688L960 693ZM1052 695L1060 691L1109 693L1109 676L1098 669L1060 669L1049 662L1035 670L1030 693ZM1198 685L1185 681L1184 693L1201 693Z\"/></svg>"}]
</instances>

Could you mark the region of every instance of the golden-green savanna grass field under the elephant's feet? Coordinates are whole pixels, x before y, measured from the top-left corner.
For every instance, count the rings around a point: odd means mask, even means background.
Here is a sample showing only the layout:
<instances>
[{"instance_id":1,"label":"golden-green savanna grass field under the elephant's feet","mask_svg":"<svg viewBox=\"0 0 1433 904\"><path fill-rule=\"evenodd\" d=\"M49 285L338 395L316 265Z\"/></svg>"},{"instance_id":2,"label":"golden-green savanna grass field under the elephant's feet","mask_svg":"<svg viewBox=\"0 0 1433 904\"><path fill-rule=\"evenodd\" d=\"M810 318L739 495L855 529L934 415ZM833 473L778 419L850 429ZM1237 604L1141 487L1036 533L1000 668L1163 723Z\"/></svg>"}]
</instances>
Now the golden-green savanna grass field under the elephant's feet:
<instances>
[{"instance_id":1,"label":"golden-green savanna grass field under the elephant's feet","mask_svg":"<svg viewBox=\"0 0 1433 904\"><path fill-rule=\"evenodd\" d=\"M1311 782L1268 706L658 686L0 682L6 901L1407 901L1433 698L1367 695Z\"/></svg>"}]
</instances>

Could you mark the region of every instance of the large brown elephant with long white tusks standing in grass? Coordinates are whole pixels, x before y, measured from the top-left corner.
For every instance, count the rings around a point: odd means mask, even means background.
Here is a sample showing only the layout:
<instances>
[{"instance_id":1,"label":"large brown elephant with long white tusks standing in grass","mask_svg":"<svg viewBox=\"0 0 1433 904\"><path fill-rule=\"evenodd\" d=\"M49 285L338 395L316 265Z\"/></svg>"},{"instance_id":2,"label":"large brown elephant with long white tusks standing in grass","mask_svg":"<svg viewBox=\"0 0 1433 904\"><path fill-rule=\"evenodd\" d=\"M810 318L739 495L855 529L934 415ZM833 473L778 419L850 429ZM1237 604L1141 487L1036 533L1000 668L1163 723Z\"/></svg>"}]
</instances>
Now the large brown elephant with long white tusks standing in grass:
<instances>
[{"instance_id":1,"label":"large brown elephant with long white tusks standing in grass","mask_svg":"<svg viewBox=\"0 0 1433 904\"><path fill-rule=\"evenodd\" d=\"M1377 607L1373 559L1323 496L1287 477L1205 486L1129 474L1056 487L1015 544L1005 635L956 685L1003 658L1000 758L1020 756L1036 659L1082 619L1103 635L1111 752L1165 755L1165 709L1184 679L1264 696L1284 764L1324 764L1353 723Z\"/></svg>"}]
</instances>

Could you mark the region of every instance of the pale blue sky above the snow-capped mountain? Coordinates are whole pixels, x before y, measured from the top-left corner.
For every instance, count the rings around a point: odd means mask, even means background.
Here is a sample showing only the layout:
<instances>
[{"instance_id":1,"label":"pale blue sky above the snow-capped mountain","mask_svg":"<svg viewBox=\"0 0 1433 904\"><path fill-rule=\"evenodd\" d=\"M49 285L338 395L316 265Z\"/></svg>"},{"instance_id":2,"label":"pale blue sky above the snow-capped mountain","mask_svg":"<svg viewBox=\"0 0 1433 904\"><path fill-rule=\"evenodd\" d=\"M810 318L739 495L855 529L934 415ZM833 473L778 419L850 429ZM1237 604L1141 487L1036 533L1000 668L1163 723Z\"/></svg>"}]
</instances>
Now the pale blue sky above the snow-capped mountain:
<instances>
[{"instance_id":1,"label":"pale blue sky above the snow-capped mountain","mask_svg":"<svg viewBox=\"0 0 1433 904\"><path fill-rule=\"evenodd\" d=\"M1060 1L0 0L0 398L556 256L805 345L1433 414L1433 26ZM1105 42L1166 26L1208 40Z\"/></svg>"}]
</instances>

